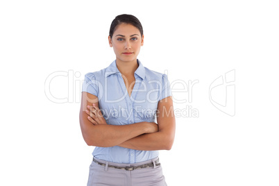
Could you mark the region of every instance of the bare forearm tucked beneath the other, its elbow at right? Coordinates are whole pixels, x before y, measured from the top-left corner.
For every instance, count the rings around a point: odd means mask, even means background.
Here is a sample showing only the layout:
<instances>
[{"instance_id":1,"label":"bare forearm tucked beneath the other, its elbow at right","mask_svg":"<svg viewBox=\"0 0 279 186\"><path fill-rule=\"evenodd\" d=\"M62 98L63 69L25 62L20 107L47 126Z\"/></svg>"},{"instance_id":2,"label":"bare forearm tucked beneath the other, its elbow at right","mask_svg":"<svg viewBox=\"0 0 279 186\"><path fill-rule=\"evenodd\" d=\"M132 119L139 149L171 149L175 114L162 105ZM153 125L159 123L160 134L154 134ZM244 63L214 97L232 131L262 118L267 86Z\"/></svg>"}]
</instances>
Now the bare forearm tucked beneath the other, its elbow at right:
<instances>
[{"instance_id":1,"label":"bare forearm tucked beneath the other, its elbow at right","mask_svg":"<svg viewBox=\"0 0 279 186\"><path fill-rule=\"evenodd\" d=\"M174 143L174 137L159 131L157 133L144 134L133 137L118 146L140 151L170 150Z\"/></svg>"}]
</instances>

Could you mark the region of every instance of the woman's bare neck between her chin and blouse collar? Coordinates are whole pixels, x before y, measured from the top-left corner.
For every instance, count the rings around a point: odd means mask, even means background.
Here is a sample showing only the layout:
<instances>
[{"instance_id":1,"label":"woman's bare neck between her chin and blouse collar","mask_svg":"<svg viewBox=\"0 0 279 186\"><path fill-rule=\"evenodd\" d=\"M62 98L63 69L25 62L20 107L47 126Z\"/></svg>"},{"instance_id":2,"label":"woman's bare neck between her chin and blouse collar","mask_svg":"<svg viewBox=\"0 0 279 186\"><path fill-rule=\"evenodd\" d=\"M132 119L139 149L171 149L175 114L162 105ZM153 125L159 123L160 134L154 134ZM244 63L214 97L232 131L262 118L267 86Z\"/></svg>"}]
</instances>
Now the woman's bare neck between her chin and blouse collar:
<instances>
[{"instance_id":1,"label":"woman's bare neck between her chin and blouse collar","mask_svg":"<svg viewBox=\"0 0 279 186\"><path fill-rule=\"evenodd\" d=\"M134 76L137 67L139 67L139 65L137 65L137 59L133 61L122 61L117 59L116 64L117 64L117 69L124 76Z\"/></svg>"}]
</instances>

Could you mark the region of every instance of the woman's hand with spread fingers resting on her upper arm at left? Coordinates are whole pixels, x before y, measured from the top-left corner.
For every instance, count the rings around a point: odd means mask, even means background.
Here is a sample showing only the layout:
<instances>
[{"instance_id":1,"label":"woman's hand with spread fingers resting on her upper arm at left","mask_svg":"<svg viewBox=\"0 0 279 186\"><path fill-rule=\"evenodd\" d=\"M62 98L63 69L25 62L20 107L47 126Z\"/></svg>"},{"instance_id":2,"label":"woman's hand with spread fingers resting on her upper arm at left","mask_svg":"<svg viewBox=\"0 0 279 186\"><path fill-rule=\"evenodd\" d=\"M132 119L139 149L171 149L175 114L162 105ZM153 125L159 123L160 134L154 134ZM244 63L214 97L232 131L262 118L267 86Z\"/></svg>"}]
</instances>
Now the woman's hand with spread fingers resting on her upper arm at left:
<instances>
[{"instance_id":1,"label":"woman's hand with spread fingers resting on her upper arm at left","mask_svg":"<svg viewBox=\"0 0 279 186\"><path fill-rule=\"evenodd\" d=\"M85 110L88 115L87 119L94 125L107 125L107 122L103 118L101 110L96 107L93 103L92 106L87 105L87 110Z\"/></svg>"}]
</instances>

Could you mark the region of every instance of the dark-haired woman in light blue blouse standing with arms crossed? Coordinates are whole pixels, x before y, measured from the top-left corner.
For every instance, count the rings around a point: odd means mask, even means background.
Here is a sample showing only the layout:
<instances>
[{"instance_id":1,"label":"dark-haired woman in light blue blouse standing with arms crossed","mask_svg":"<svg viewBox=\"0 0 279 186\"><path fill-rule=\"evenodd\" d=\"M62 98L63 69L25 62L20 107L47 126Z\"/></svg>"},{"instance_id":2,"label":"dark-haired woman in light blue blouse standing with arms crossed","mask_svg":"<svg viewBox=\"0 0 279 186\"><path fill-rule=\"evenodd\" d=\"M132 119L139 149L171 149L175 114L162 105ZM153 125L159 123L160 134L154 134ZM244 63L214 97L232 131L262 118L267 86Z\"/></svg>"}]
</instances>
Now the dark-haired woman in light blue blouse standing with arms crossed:
<instances>
[{"instance_id":1,"label":"dark-haired woman in light blue blouse standing with arms crossed","mask_svg":"<svg viewBox=\"0 0 279 186\"><path fill-rule=\"evenodd\" d=\"M96 146L87 186L167 185L158 159L175 133L167 75L137 60L144 35L133 15L115 17L108 42L116 60L85 74L83 83L81 131L87 145Z\"/></svg>"}]
</instances>

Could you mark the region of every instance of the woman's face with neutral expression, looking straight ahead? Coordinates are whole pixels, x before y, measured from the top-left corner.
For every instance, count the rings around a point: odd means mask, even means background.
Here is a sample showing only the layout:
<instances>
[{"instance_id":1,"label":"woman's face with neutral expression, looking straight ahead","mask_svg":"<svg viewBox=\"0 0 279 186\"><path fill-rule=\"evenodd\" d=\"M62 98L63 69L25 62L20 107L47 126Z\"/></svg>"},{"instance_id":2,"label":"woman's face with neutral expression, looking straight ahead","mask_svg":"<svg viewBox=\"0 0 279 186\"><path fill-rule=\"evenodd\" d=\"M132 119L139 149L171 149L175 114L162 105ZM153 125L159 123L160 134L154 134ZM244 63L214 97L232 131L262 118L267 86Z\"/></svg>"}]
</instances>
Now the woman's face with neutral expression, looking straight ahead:
<instances>
[{"instance_id":1,"label":"woman's face with neutral expression, looking straight ahead","mask_svg":"<svg viewBox=\"0 0 279 186\"><path fill-rule=\"evenodd\" d=\"M115 29L112 38L108 36L110 47L113 47L117 60L130 62L137 60L140 47L144 44L144 35L131 24L121 23Z\"/></svg>"}]
</instances>

